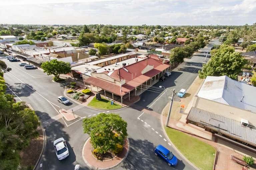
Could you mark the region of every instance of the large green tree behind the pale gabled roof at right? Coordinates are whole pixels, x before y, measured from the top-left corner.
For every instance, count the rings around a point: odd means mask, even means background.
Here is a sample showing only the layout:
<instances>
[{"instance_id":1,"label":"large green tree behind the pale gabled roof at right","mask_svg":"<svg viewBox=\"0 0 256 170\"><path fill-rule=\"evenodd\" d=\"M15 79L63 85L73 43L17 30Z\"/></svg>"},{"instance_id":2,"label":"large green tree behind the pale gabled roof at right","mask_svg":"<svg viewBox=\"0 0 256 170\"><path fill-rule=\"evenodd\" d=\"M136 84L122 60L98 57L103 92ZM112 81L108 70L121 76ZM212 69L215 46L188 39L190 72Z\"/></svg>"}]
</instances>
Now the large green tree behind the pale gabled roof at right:
<instances>
[{"instance_id":1,"label":"large green tree behind the pale gabled roof at right","mask_svg":"<svg viewBox=\"0 0 256 170\"><path fill-rule=\"evenodd\" d=\"M199 77L226 75L236 79L245 64L246 60L240 53L235 52L234 47L222 45L215 50L211 60L203 66L202 71L199 71Z\"/></svg>"}]
</instances>

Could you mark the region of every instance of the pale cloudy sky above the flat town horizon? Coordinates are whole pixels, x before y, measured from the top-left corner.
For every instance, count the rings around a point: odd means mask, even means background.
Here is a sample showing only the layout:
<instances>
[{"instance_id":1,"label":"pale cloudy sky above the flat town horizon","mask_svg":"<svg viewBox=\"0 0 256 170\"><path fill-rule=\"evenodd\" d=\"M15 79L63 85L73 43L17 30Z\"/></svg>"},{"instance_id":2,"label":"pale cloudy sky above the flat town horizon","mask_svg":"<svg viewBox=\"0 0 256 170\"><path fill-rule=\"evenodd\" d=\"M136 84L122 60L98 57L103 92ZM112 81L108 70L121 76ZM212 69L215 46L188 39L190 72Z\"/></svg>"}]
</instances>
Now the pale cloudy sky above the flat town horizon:
<instances>
[{"instance_id":1,"label":"pale cloudy sky above the flat town horizon","mask_svg":"<svg viewBox=\"0 0 256 170\"><path fill-rule=\"evenodd\" d=\"M256 0L1 0L1 24L252 25Z\"/></svg>"}]
</instances>

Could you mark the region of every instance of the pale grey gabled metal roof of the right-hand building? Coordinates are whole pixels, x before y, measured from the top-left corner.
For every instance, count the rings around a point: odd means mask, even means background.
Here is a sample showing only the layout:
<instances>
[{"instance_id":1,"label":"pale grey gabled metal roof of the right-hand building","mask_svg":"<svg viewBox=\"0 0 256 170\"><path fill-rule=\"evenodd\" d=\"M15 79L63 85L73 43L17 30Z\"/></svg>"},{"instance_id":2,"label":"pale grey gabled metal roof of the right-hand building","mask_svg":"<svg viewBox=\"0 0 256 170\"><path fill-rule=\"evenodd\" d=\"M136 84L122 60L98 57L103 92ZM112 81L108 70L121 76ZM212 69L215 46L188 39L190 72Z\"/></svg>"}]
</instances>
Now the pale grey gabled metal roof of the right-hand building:
<instances>
[{"instance_id":1,"label":"pale grey gabled metal roof of the right-hand building","mask_svg":"<svg viewBox=\"0 0 256 170\"><path fill-rule=\"evenodd\" d=\"M256 113L256 87L227 76L207 76L197 96Z\"/></svg>"}]
</instances>

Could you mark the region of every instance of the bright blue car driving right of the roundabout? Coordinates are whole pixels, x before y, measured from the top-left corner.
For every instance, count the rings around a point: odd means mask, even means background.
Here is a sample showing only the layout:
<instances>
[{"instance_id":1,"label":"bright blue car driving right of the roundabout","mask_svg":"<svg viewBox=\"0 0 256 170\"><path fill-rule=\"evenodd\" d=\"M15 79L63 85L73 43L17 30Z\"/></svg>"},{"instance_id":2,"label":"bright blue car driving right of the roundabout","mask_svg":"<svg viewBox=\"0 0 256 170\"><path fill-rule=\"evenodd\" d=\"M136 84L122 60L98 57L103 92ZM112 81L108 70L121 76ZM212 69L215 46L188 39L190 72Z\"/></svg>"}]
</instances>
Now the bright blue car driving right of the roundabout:
<instances>
[{"instance_id":1,"label":"bright blue car driving right of the roundabout","mask_svg":"<svg viewBox=\"0 0 256 170\"><path fill-rule=\"evenodd\" d=\"M177 165L178 159L168 149L162 145L158 145L155 149L155 155L163 158L169 166Z\"/></svg>"}]
</instances>

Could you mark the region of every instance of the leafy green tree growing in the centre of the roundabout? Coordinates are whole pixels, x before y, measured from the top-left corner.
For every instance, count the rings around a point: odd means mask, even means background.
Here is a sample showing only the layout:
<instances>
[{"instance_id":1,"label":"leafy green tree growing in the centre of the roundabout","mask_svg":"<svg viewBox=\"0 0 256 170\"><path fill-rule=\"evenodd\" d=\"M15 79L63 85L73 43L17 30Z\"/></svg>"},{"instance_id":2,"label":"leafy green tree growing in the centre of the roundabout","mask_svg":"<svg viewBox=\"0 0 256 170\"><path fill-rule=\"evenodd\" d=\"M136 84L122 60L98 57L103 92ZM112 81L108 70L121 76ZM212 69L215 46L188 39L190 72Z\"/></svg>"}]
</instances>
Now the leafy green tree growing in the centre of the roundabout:
<instances>
[{"instance_id":1,"label":"leafy green tree growing in the centre of the roundabout","mask_svg":"<svg viewBox=\"0 0 256 170\"><path fill-rule=\"evenodd\" d=\"M83 120L84 133L91 137L93 154L103 159L106 154L118 154L123 150L127 137L127 123L117 114L101 113Z\"/></svg>"}]
</instances>

